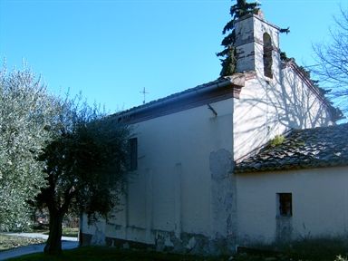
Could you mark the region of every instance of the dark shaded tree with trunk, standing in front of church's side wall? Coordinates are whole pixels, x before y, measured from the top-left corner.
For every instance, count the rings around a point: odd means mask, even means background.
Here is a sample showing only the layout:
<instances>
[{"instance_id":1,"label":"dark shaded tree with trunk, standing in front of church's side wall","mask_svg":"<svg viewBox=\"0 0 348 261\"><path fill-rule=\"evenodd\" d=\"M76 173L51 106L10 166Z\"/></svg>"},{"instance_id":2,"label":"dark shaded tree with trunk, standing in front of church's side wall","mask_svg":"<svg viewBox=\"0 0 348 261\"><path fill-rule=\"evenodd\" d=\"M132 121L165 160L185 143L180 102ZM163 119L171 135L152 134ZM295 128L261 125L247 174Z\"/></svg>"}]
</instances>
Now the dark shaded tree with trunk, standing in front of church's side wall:
<instances>
[{"instance_id":1,"label":"dark shaded tree with trunk, standing in front of church's side wall","mask_svg":"<svg viewBox=\"0 0 348 261\"><path fill-rule=\"evenodd\" d=\"M79 100L81 101L81 100ZM117 211L129 171L132 129L117 117L86 102L64 102L59 129L53 131L38 160L45 162L48 187L33 202L48 208L50 234L46 254L62 251L62 221L68 211L86 214L90 223Z\"/></svg>"}]
</instances>

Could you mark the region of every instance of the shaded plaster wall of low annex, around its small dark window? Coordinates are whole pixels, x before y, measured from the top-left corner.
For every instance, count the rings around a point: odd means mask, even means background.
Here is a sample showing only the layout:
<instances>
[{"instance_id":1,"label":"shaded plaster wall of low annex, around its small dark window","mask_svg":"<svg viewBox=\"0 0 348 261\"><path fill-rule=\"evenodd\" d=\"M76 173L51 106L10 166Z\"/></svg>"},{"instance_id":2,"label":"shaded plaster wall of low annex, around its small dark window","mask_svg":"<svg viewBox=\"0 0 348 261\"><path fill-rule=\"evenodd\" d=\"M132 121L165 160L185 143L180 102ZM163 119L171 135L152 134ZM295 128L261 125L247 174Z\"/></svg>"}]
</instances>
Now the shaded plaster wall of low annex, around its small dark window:
<instances>
[{"instance_id":1,"label":"shaded plaster wall of low annex, around its small dark window","mask_svg":"<svg viewBox=\"0 0 348 261\"><path fill-rule=\"evenodd\" d=\"M239 245L348 232L347 167L244 173L236 179ZM292 193L292 217L277 215L276 193Z\"/></svg>"}]
</instances>

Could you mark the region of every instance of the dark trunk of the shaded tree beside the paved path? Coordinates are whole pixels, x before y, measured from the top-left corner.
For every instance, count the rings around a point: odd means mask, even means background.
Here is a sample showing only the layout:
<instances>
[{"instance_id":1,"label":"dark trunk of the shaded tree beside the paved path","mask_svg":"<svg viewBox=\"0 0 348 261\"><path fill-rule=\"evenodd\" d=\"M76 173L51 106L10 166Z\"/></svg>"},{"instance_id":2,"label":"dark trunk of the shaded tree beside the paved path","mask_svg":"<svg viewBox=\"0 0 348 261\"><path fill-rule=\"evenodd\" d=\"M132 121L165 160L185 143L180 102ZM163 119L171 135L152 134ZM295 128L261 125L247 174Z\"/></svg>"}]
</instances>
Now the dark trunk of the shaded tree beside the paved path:
<instances>
[{"instance_id":1,"label":"dark trunk of the shaded tree beside the paved path","mask_svg":"<svg viewBox=\"0 0 348 261\"><path fill-rule=\"evenodd\" d=\"M61 211L50 213L50 234L46 247L43 249L45 255L59 255L62 253L63 216L64 214Z\"/></svg>"}]
</instances>

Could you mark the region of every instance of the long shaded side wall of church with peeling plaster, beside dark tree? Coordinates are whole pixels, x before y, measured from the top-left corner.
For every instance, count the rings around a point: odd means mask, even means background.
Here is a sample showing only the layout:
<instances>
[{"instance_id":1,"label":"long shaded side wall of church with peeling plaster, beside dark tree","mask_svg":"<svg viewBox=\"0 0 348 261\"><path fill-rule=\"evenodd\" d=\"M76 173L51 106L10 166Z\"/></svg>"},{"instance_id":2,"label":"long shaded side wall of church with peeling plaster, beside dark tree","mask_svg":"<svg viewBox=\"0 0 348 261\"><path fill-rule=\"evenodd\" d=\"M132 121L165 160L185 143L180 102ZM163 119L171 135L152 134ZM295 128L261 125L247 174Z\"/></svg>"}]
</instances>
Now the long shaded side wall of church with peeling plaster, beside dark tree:
<instances>
[{"instance_id":1,"label":"long shaded side wall of church with peeling plaster, beside dark tree","mask_svg":"<svg viewBox=\"0 0 348 261\"><path fill-rule=\"evenodd\" d=\"M233 252L236 197L229 174L233 102L211 103L217 117L201 106L140 122L139 168L128 186L123 211L109 223L93 227L84 223L82 232L145 243L157 250ZM92 242L102 242L96 237Z\"/></svg>"}]
</instances>

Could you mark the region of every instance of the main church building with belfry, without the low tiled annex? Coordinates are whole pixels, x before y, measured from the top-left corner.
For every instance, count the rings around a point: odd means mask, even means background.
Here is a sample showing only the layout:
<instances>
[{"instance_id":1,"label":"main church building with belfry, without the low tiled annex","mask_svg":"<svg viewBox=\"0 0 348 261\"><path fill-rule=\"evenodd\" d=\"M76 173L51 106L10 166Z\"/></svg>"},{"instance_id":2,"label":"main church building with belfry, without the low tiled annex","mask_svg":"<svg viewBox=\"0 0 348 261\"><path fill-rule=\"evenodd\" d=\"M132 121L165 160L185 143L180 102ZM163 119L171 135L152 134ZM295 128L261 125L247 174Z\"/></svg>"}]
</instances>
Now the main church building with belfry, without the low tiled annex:
<instances>
[{"instance_id":1,"label":"main church building with belfry, without the low tiled annex","mask_svg":"<svg viewBox=\"0 0 348 261\"><path fill-rule=\"evenodd\" d=\"M280 60L279 28L259 14L236 24L238 73L122 112L137 126L138 175L115 218L93 226L82 219L82 244L219 255L252 233L275 237L247 226L254 203L235 161L275 135L333 125L336 116L294 60Z\"/></svg>"}]
</instances>

